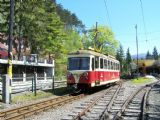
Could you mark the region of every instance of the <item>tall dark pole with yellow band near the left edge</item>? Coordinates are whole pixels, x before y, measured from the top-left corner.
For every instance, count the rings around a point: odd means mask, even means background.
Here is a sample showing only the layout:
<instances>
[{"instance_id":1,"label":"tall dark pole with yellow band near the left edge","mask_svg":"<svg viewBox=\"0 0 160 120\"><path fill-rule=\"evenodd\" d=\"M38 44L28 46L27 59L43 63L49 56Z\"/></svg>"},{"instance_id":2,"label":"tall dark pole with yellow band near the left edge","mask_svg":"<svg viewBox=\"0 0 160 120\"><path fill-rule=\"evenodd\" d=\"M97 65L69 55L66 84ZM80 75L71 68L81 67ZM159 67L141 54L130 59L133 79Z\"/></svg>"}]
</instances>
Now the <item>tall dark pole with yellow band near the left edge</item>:
<instances>
[{"instance_id":1,"label":"tall dark pole with yellow band near the left edge","mask_svg":"<svg viewBox=\"0 0 160 120\"><path fill-rule=\"evenodd\" d=\"M13 19L14 19L14 0L10 0L10 19L9 19L9 38L8 38L8 80L9 80L9 101L11 101L11 82L12 82L12 41L13 41Z\"/></svg>"}]
</instances>

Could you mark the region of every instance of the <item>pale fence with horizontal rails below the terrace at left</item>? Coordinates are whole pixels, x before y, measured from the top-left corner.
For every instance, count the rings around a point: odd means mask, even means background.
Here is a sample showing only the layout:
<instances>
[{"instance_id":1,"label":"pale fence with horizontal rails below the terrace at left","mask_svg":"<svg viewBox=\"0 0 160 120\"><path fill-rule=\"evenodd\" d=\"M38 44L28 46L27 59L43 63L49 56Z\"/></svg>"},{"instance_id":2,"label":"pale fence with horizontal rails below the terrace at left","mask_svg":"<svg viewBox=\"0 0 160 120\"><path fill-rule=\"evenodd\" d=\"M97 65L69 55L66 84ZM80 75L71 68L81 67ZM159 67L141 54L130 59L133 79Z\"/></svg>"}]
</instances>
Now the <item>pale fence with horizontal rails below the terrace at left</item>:
<instances>
[{"instance_id":1,"label":"pale fence with horizontal rails below the terrace at left","mask_svg":"<svg viewBox=\"0 0 160 120\"><path fill-rule=\"evenodd\" d=\"M31 91L34 86L33 79L34 74L27 74L26 76L14 74L11 82L12 93ZM65 77L54 77L53 79L52 76L44 76L42 74L37 74L36 89L49 90L53 89L53 85L54 88L66 87L66 83L67 82ZM0 92L2 92L2 76L0 77Z\"/></svg>"}]
</instances>

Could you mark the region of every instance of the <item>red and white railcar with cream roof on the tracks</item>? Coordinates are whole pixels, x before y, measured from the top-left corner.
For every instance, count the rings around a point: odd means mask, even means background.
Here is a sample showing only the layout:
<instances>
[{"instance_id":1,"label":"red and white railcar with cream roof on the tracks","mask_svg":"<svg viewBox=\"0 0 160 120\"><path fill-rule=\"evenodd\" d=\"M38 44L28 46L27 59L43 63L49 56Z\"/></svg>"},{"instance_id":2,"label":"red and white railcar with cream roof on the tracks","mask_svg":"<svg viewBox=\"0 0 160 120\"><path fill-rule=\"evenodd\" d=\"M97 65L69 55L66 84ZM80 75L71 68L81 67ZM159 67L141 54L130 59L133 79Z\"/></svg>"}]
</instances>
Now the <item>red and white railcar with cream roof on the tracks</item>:
<instances>
[{"instance_id":1,"label":"red and white railcar with cream roof on the tracks","mask_svg":"<svg viewBox=\"0 0 160 120\"><path fill-rule=\"evenodd\" d=\"M67 85L76 90L106 85L120 80L119 61L92 50L68 54Z\"/></svg>"}]
</instances>

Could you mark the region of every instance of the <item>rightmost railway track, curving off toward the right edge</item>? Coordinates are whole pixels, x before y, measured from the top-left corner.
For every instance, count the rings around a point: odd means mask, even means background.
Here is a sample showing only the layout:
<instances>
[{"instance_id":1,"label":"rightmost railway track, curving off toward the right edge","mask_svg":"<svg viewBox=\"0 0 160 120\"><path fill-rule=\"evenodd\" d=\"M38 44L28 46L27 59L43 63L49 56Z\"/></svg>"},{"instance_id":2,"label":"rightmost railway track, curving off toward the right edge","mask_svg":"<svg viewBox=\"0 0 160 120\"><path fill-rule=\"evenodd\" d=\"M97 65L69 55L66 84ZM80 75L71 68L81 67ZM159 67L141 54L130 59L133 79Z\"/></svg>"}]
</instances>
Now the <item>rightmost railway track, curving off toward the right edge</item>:
<instances>
[{"instance_id":1,"label":"rightmost railway track, curving off toward the right edge","mask_svg":"<svg viewBox=\"0 0 160 120\"><path fill-rule=\"evenodd\" d=\"M114 115L113 120L146 120L149 93L158 82L143 86L131 94ZM155 113L152 113L155 114ZM159 114L160 113L156 113Z\"/></svg>"}]
</instances>

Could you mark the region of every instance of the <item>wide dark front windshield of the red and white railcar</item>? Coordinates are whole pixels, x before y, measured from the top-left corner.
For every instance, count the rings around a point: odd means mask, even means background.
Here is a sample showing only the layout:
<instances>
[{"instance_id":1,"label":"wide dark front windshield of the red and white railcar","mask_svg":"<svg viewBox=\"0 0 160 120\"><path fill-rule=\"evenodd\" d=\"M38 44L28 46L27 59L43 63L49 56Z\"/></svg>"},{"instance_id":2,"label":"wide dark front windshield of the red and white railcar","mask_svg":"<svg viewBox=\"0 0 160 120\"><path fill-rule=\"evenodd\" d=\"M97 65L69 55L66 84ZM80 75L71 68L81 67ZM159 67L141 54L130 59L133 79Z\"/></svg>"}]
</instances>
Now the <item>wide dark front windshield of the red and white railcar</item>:
<instances>
[{"instance_id":1,"label":"wide dark front windshield of the red and white railcar","mask_svg":"<svg viewBox=\"0 0 160 120\"><path fill-rule=\"evenodd\" d=\"M68 70L89 70L89 57L70 57L68 58Z\"/></svg>"}]
</instances>

